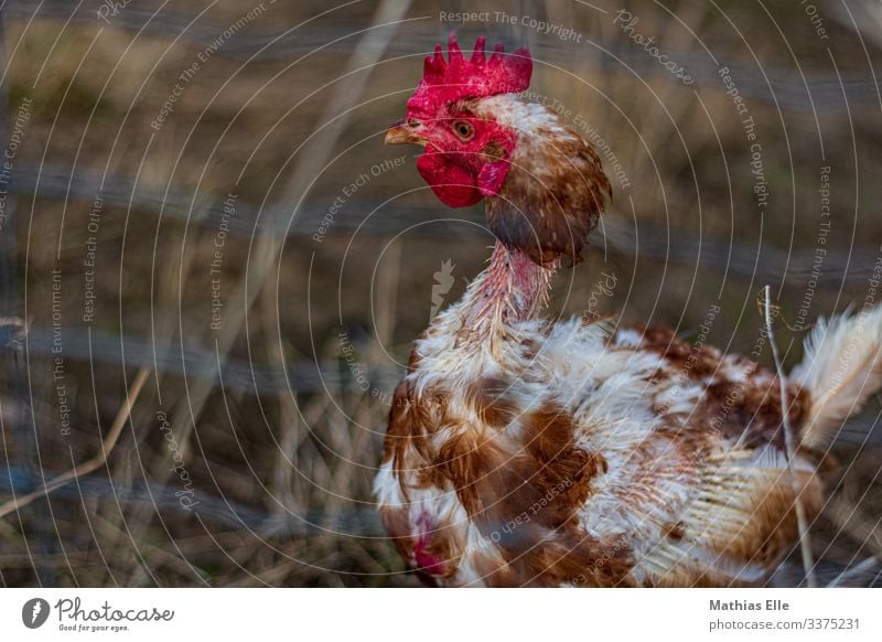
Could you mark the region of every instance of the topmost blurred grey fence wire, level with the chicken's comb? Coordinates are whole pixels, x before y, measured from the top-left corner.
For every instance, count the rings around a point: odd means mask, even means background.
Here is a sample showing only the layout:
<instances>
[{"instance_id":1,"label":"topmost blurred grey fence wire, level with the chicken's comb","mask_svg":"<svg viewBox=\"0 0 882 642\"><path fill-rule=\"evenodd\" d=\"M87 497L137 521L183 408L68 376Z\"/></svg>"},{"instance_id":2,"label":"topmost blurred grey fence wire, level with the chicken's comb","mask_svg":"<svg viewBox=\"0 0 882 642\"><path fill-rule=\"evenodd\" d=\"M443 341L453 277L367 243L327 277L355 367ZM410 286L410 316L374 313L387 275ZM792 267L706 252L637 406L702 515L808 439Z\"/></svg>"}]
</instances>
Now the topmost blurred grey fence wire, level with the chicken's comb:
<instances>
[{"instance_id":1,"label":"topmost blurred grey fence wire, level with the chicken's comb","mask_svg":"<svg viewBox=\"0 0 882 642\"><path fill-rule=\"evenodd\" d=\"M54 20L79 25L111 26L122 29L138 36L168 39L170 34L194 47L209 47L219 33L230 24L200 19L175 10L162 8L160 3L143 6L127 4L108 17L99 18L99 8L105 2L89 0L73 3L67 0L13 0L7 2L3 11L8 19ZM437 15L424 15L411 20L408 29L395 34L386 46L386 57L421 56L430 53L431 44L443 39L445 26L440 25ZM386 28L386 29L391 29ZM341 23L335 17L333 24L321 20L308 25L278 29L249 29L236 33L236 38L213 51L213 55L236 61L287 61L315 53L349 55L364 30L363 23ZM341 34L349 34L341 36ZM513 33L523 40L524 33ZM576 64L580 72L602 71L624 74L637 78L665 78L667 72L654 60L621 43L598 42L591 34L582 34L582 49ZM429 43L429 44L427 44ZM530 51L539 65L573 65L572 47L556 39L535 38L529 42ZM696 52L671 52L673 60L688 60L689 73L699 85L722 87L719 69L729 67L736 78L742 94L751 98L771 103L782 109L815 111L827 109L854 109L860 106L882 106L882 97L873 78L863 73L842 72L841 74L806 71L803 74L784 66L745 65L736 60L728 61L710 54L696 55Z\"/></svg>"}]
</instances>

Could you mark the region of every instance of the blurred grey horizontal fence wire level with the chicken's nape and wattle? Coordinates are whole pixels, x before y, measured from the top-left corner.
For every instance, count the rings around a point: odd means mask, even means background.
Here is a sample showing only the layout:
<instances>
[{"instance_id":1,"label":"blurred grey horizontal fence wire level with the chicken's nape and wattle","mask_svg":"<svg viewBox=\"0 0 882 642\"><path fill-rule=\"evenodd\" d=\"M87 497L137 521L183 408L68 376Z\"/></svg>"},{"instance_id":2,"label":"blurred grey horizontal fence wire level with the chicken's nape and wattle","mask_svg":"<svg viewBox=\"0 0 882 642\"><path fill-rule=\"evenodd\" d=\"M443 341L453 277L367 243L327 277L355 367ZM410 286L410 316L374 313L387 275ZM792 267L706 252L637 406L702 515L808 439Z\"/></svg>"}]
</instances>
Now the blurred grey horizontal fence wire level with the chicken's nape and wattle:
<instances>
[{"instance_id":1,"label":"blurred grey horizontal fence wire level with the chicken's nape and wattle","mask_svg":"<svg viewBox=\"0 0 882 642\"><path fill-rule=\"evenodd\" d=\"M56 167L22 167L13 173L11 192L57 201L93 203L100 196L107 206L131 208L139 213L162 215L191 224L217 229L222 221L232 234L251 236L263 233L291 237L312 236L324 223L333 199L308 199L298 212L291 204L275 205L266 210L238 201L236 216L224 216L224 196L193 194L183 189L149 185L127 176L105 176L99 172L78 168L75 171ZM412 227L415 220L437 221L438 224L417 228L413 234L477 236L490 238L480 213L466 211L456 217L440 218L437 206L415 200L386 203L358 200L358 211L340 215L334 221L337 233L395 235ZM728 220L729 212L706 208L703 216ZM462 222L476 225L462 225ZM734 238L713 238L699 235L689 228L659 225L639 221L635 216L605 213L593 232L592 245L625 256L684 264L695 269L712 269L728 276L760 282L783 283L803 288L809 281L814 287L841 288L849 282L869 278L879 252L869 248L826 250L824 270L816 269L815 249L786 252L765 239L750 245Z\"/></svg>"}]
</instances>

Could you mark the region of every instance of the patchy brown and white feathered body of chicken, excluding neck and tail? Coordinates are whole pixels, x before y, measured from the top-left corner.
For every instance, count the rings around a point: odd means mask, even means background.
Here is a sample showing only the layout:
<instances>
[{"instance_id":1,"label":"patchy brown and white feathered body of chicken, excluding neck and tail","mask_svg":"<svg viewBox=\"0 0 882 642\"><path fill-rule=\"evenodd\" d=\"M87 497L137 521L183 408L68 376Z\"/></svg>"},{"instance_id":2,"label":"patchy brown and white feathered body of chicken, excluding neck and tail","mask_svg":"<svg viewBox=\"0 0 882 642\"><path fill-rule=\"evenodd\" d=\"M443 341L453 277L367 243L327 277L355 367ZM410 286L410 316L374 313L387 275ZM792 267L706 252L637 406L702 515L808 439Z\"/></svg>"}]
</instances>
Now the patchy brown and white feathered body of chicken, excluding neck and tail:
<instances>
[{"instance_id":1,"label":"patchy brown and white feathered body of chicken, excluding neck and tail","mask_svg":"<svg viewBox=\"0 0 882 642\"><path fill-rule=\"evenodd\" d=\"M410 367L375 488L437 584L756 584L796 541L794 488L820 504L778 381L669 330L527 323L475 352L442 320ZM805 393L786 405L798 428Z\"/></svg>"}]
</instances>

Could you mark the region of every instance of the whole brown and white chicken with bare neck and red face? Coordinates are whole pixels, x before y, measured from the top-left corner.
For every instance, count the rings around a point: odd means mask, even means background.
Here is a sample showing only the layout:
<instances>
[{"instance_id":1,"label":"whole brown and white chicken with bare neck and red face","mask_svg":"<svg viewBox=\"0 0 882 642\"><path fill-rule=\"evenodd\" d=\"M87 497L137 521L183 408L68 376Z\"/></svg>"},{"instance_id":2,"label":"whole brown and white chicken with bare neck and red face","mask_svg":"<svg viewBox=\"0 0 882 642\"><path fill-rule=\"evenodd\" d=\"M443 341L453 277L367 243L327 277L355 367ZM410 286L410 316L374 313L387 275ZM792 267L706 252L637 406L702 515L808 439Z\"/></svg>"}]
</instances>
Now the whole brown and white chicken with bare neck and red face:
<instances>
[{"instance_id":1,"label":"whole brown and white chicken with bare neck and red face","mask_svg":"<svg viewBox=\"0 0 882 642\"><path fill-rule=\"evenodd\" d=\"M438 586L760 585L822 503L819 460L882 386L882 308L818 324L782 382L667 329L542 319L611 197L601 161L525 101L526 50L438 45L386 143L496 244L416 342L374 492ZM783 397L783 398L782 398ZM788 458L784 422L796 448Z\"/></svg>"}]
</instances>

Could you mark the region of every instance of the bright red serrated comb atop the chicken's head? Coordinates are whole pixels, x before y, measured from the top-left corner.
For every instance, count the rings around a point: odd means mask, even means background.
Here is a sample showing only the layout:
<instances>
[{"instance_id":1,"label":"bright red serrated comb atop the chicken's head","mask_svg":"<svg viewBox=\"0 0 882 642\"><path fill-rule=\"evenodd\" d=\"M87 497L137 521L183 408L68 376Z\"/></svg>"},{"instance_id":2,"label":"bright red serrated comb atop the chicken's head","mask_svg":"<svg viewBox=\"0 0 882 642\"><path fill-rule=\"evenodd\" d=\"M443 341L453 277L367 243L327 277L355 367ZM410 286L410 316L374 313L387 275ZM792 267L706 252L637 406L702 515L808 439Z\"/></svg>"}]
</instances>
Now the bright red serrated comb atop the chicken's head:
<instances>
[{"instance_id":1,"label":"bright red serrated comb atop the chicken's head","mask_svg":"<svg viewBox=\"0 0 882 642\"><path fill-rule=\"evenodd\" d=\"M486 39L482 35L475 42L470 60L465 60L451 33L448 39L448 60L441 54L441 45L434 47L434 55L426 58L422 79L417 92L407 101L408 111L416 118L431 118L441 105L460 98L495 96L523 92L530 85L533 58L526 49L509 55L497 44L493 55L484 55Z\"/></svg>"}]
</instances>

